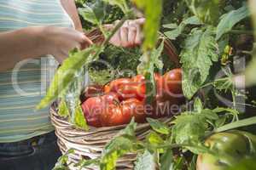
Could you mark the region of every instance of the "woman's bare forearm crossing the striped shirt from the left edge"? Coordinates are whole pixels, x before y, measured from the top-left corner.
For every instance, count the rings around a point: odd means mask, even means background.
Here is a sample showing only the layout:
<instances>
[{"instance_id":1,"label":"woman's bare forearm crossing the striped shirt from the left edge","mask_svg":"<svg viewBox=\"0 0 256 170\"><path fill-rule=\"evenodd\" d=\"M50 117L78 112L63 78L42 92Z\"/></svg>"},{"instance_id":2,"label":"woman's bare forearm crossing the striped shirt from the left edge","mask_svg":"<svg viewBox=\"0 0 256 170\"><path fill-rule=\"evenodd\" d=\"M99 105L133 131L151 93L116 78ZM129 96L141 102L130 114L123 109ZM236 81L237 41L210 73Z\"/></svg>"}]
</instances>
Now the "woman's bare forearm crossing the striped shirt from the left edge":
<instances>
[{"instance_id":1,"label":"woman's bare forearm crossing the striped shirt from the left edge","mask_svg":"<svg viewBox=\"0 0 256 170\"><path fill-rule=\"evenodd\" d=\"M26 27L0 33L0 71L6 71L22 59L43 55L39 27Z\"/></svg>"}]
</instances>

